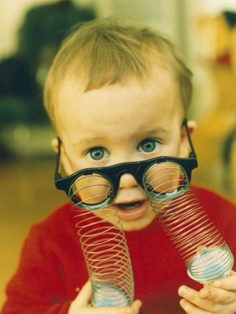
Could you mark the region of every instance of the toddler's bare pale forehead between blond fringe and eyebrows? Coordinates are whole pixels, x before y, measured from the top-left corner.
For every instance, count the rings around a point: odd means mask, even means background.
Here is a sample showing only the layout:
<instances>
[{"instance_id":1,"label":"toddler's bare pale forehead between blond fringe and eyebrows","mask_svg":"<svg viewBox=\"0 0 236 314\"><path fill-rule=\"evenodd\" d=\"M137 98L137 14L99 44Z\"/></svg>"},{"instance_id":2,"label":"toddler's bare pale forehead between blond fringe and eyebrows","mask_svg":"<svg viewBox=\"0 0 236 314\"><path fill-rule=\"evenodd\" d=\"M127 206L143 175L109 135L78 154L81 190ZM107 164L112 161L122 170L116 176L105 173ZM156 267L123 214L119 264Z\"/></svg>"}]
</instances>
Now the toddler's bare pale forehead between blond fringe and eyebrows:
<instances>
[{"instance_id":1,"label":"toddler's bare pale forehead between blond fringe and eyebrows","mask_svg":"<svg viewBox=\"0 0 236 314\"><path fill-rule=\"evenodd\" d=\"M82 92L82 87L71 84L61 90L57 110L57 125L66 132L84 129L137 128L156 122L168 123L182 117L184 109L179 87L170 71L163 70L145 83L130 80ZM60 130L59 130L60 132ZM60 134L59 134L60 135Z\"/></svg>"}]
</instances>

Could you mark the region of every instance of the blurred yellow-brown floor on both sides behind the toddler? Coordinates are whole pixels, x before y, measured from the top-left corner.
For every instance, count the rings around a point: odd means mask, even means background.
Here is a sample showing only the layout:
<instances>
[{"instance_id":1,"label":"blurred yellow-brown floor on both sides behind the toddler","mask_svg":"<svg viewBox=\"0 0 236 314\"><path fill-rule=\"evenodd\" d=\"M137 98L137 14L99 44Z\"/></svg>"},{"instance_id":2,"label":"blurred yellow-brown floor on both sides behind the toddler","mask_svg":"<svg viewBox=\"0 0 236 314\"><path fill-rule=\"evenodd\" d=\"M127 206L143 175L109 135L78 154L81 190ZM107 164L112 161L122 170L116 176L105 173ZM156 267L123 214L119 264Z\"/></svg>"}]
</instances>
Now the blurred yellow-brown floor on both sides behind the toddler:
<instances>
[{"instance_id":1,"label":"blurred yellow-brown floor on both sides behind the toddler","mask_svg":"<svg viewBox=\"0 0 236 314\"><path fill-rule=\"evenodd\" d=\"M201 142L197 141L196 147L200 146ZM54 188L54 163L54 158L0 163L0 308L5 299L4 287L17 267L29 225L67 200L63 192ZM210 187L236 201L235 190L224 187L219 158L205 158L202 153L199 164L199 169L193 172L193 183Z\"/></svg>"}]
</instances>

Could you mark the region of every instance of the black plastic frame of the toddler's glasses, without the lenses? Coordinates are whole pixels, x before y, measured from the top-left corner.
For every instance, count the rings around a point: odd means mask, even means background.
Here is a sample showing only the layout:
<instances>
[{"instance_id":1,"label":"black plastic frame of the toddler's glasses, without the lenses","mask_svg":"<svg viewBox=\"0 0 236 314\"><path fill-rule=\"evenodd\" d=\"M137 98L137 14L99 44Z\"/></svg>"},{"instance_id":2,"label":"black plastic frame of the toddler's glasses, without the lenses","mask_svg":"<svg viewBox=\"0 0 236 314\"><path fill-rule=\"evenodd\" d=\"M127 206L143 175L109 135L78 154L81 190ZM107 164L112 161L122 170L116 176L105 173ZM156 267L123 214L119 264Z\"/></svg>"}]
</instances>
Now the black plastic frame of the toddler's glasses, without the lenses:
<instances>
[{"instance_id":1,"label":"black plastic frame of the toddler's glasses, without the lenses","mask_svg":"<svg viewBox=\"0 0 236 314\"><path fill-rule=\"evenodd\" d=\"M135 180L138 184L145 190L145 186L143 184L143 175L147 168L149 168L154 163L177 163L181 167L184 168L189 181L191 181L191 172L194 168L198 167L198 161L196 158L196 152L193 148L193 143L191 141L191 136L189 134L189 128L187 126L187 121L184 119L183 126L186 128L186 133L189 139L189 145L191 148L191 152L189 153L189 158L177 158L177 157L169 157L169 156L160 156L152 159L142 160L142 161L134 161L130 163L119 163L117 165L111 165L108 167L94 167L94 168L86 168L83 170L79 170L68 177L61 177L59 173L59 165L60 165L60 155L61 149L60 144L61 140L58 137L58 153L57 153L57 165L54 174L54 183L59 190L64 190L69 199L73 200L73 191L71 190L72 184L76 179L80 176L87 176L91 174L99 174L110 182L112 193L109 195L108 199L102 202L103 205L108 205L112 202L114 197L117 195L117 191L119 188L119 179L123 174L132 174L135 177Z\"/></svg>"}]
</instances>

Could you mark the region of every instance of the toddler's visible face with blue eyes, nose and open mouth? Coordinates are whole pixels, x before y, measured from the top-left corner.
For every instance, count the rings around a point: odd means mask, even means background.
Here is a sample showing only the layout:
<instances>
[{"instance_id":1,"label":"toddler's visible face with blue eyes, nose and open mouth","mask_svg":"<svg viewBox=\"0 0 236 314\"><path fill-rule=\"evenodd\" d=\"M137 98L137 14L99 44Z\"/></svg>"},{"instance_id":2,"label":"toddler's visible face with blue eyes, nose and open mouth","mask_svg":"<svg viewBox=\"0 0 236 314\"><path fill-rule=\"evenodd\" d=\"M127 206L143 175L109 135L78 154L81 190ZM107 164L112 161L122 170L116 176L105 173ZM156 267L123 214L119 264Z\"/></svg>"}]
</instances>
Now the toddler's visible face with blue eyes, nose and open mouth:
<instances>
[{"instance_id":1,"label":"toddler's visible face with blue eyes, nose and open mouth","mask_svg":"<svg viewBox=\"0 0 236 314\"><path fill-rule=\"evenodd\" d=\"M65 93L58 112L67 174L157 156L186 158L189 153L182 101L169 73L150 80L147 87L134 80L85 94ZM112 207L128 231L147 227L155 217L145 191L131 174L121 176Z\"/></svg>"}]
</instances>

